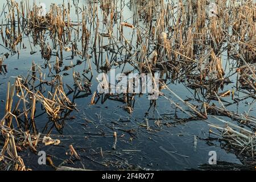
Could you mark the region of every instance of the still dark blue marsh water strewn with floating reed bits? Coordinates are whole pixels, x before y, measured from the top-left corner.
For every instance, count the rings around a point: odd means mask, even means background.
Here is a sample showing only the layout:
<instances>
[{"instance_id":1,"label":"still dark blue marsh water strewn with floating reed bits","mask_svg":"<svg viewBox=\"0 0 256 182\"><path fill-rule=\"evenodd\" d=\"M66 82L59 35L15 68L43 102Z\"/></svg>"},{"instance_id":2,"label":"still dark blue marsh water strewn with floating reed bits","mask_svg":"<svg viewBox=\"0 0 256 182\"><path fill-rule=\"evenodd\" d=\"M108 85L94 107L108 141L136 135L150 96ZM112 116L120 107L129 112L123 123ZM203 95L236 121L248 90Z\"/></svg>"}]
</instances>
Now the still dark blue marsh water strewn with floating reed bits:
<instances>
[{"instance_id":1,"label":"still dark blue marsh water strewn with floating reed bits","mask_svg":"<svg viewBox=\"0 0 256 182\"><path fill-rule=\"evenodd\" d=\"M40 1L43 2L43 1ZM51 3L57 5L63 1L45 1L47 9ZM65 2L65 1L64 1ZM123 10L123 21L131 22L133 19L133 7L130 7L130 1L125 1ZM36 1L39 3L39 1ZM67 2L66 2L67 3ZM86 1L80 1L79 6L86 6ZM2 8L5 1L0 2ZM32 4L32 2L31 2ZM74 6L71 2L71 6ZM101 14L101 10L98 10ZM7 16L7 14L5 15ZM2 14L1 19L5 20ZM76 22L77 17L71 13L71 19ZM100 20L101 22L101 20ZM102 22L101 22L102 23ZM105 32L103 23L100 23L99 31ZM143 21L141 20L141 26ZM92 30L93 31L93 30ZM131 39L133 34L129 30L124 30L126 39ZM93 39L93 36L92 36ZM108 39L103 39L107 44ZM20 49L18 54L9 55L4 63L7 65L7 73L0 75L0 118L4 116L4 107L6 100L7 82L18 75L27 75L31 68L32 61L42 67L43 72L48 74L48 68L44 69L46 60L42 58L40 47L32 47L33 53L31 55L30 43L32 38L24 35L23 43L26 48ZM3 46L0 46L0 56L2 57L6 52L9 52ZM53 53L56 50L53 50ZM10 52L9 52L10 53ZM88 51L88 54L94 57L93 51ZM106 59L107 52L102 54L102 59ZM108 55L109 56L109 55ZM77 65L73 69L76 72L82 73L88 67L88 63L82 60L81 57L75 56L71 59L71 52L64 52L63 65L71 65L71 61L76 63L77 60L83 61L81 65ZM224 85L223 90L233 90L236 86L237 75L232 75L236 68L231 68L233 60L227 59L226 52L222 53L222 64L225 68L226 75L230 75L230 84ZM54 64L55 56L51 56L48 60L49 64ZM116 61L122 60L121 55L116 56ZM72 72L73 69L61 72L68 73L63 75L64 85L73 85ZM133 70L130 65L116 65L115 72L126 72ZM94 61L92 61L92 81L90 94L75 98L76 93L68 95L72 102L76 103L77 111L72 111L61 122L64 127L56 129L55 125L49 121L47 114L40 115L40 111L36 113L36 128L42 134L59 139L61 143L58 146L44 146L42 143L38 144L39 151L46 151L47 155L51 156L55 166L63 163L64 160L70 158L68 155L69 146L72 144L80 155L81 160L69 161L65 166L85 168L85 169L156 169L156 170L183 170L183 169L198 169L200 164L208 164L210 158L209 152L216 151L217 163L218 161L225 161L230 163L242 164L239 156L235 155L233 151L229 151L223 143L218 140L208 140L209 126L203 120L187 119L188 115L172 105L166 98L159 97L158 100L152 104L148 100L148 94L137 95L133 100L133 112L129 113L124 109L126 104L118 101L118 99L100 98L96 104L90 104L92 94L97 91L98 81L97 75L101 70L97 69ZM87 75L90 76L90 73ZM188 88L186 80L169 81L169 88L173 90L183 100L188 100L191 104L197 104L204 101L205 98L201 95L200 90ZM68 93L68 88L64 86L65 92ZM171 100L183 106L176 97L174 97L168 90L162 91L164 95ZM237 98L243 98L246 94L240 90L235 92ZM236 113L243 113L248 111L251 105L251 98L247 98L238 103L233 104L232 97L223 98L228 110ZM15 101L14 101L15 102ZM211 101L219 105L218 101ZM253 102L254 103L254 102ZM39 110L39 109L38 109ZM250 111L251 115L256 116L255 109ZM232 121L228 117L221 117L227 121ZM150 130L147 130L144 125L148 125ZM214 123L216 119L208 117L208 121ZM127 132L129 131L129 132ZM114 138L113 133L117 132L117 147L112 149ZM196 136L196 142L195 142ZM212 136L214 138L214 136ZM19 152L26 167L31 169L47 169L52 170L50 166L39 165L39 156L32 152L29 148Z\"/></svg>"}]
</instances>

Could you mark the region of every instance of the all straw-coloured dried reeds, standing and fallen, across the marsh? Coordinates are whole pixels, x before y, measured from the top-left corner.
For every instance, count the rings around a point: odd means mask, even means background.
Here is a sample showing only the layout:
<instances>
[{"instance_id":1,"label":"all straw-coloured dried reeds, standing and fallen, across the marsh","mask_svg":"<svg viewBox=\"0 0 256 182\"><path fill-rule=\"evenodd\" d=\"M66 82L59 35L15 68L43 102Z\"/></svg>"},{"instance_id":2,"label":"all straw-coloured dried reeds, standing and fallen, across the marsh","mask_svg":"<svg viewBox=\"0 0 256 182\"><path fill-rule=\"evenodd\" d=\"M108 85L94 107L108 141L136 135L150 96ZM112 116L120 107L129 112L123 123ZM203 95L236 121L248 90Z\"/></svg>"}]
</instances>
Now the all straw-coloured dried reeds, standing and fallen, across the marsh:
<instances>
[{"instance_id":1,"label":"all straw-coloured dried reeds, standing and fallen, across the marsh","mask_svg":"<svg viewBox=\"0 0 256 182\"><path fill-rule=\"evenodd\" d=\"M64 92L64 86L69 92L77 92L76 97L80 97L81 93L92 94L91 78L85 76L88 73L93 76L92 63L98 71L106 73L111 68L124 68L127 64L139 73L160 72L160 97L166 98L189 118L206 121L210 115L225 115L246 126L245 129L236 122L216 117L220 125L209 123L209 131L240 154L255 156L256 118L227 110L221 99L234 94L230 90L222 90L230 82L224 64L237 73L237 89L246 89L248 97L255 99L256 5L253 1L237 5L234 0L217 0L216 12L214 10L214 16L210 17L210 2L207 0L177 1L177 4L163 0L132 0L129 3L134 16L127 22L123 1L87 1L82 7L74 3L76 21L71 19L69 3L52 4L46 16L38 16L40 7L34 4L30 9L29 2L7 0L3 10L8 12L5 14L7 23L1 26L3 46L10 49L11 55L19 54L24 48L23 36L30 37L31 54L39 45L49 69L48 77L52 80L45 80L46 75L33 63L26 77L20 75L9 82L5 117L0 122L5 139L0 153L0 168L26 169L17 148L28 146L36 151L38 142L42 141L36 131L36 105L42 106L56 127L60 128L63 127L59 123L61 118L75 109L75 104ZM101 32L102 27L105 32ZM127 35L131 35L129 39ZM50 41L47 42L47 38ZM79 56L84 61L63 67L63 52L70 53L71 59ZM227 63L223 63L224 53L229 57L225 60ZM49 60L53 56L56 56L56 61L52 66ZM64 85L61 78L63 71L74 69L84 62L83 73L73 71L74 85ZM0 59L1 72L6 72L3 57ZM207 102L199 102L196 106L184 101L171 90L171 86L167 86L167 80L184 82L189 88L201 90ZM163 89L183 105L167 98L162 93ZM101 95L94 92L91 104L95 104ZM108 98L115 99L117 96L125 104L124 109L128 113L133 112L135 94L110 94ZM217 100L220 107L210 105L210 100ZM30 128L32 130L27 132ZM79 158L74 148L70 148Z\"/></svg>"}]
</instances>

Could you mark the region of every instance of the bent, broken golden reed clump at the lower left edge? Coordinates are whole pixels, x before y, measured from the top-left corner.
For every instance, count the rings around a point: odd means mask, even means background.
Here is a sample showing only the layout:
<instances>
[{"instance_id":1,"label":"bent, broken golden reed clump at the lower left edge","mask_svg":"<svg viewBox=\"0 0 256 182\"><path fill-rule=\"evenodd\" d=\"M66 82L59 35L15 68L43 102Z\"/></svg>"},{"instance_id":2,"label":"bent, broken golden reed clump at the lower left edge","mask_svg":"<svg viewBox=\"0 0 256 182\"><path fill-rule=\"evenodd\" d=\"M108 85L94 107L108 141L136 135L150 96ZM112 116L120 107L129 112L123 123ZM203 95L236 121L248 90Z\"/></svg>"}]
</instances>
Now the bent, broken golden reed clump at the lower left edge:
<instances>
[{"instance_id":1,"label":"bent, broken golden reed clump at the lower left edge","mask_svg":"<svg viewBox=\"0 0 256 182\"><path fill-rule=\"evenodd\" d=\"M5 116L0 121L1 134L5 138L5 146L0 155L6 164L4 169L26 169L17 154L15 140L18 147L22 144L36 151L40 137L36 130L35 117L38 104L52 122L60 119L63 111L75 109L75 105L64 92L61 76L56 75L53 80L46 81L41 68L33 63L27 77L15 77L14 84L7 84ZM30 133L29 126L33 129ZM6 153L9 157L5 156Z\"/></svg>"}]
</instances>

